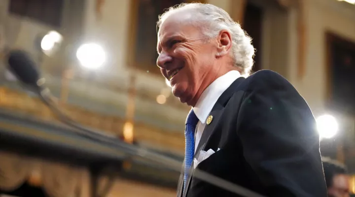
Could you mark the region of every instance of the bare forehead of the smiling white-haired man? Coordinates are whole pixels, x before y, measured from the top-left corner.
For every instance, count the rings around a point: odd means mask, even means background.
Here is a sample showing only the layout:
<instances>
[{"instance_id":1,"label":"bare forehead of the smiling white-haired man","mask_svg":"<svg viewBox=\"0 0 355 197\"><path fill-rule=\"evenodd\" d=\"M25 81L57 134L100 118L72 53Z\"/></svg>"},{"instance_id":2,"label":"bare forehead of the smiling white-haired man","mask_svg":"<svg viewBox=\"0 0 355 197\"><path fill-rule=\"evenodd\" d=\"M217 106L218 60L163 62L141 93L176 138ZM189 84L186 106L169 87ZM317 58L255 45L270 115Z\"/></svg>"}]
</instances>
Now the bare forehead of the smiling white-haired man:
<instances>
[{"instance_id":1,"label":"bare forehead of the smiling white-haired man","mask_svg":"<svg viewBox=\"0 0 355 197\"><path fill-rule=\"evenodd\" d=\"M158 32L158 42L172 36L195 37L199 28L191 23L192 10L181 10L170 14L162 23Z\"/></svg>"}]
</instances>

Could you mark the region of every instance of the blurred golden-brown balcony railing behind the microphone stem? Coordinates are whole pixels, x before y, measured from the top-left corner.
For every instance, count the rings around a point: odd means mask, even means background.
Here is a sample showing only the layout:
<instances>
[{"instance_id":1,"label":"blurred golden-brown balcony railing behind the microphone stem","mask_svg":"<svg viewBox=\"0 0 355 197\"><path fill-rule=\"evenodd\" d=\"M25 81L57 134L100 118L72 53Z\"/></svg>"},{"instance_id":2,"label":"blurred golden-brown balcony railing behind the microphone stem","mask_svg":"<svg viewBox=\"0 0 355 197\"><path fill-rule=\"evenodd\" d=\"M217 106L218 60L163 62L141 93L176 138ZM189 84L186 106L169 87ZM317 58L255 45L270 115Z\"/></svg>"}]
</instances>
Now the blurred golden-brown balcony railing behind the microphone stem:
<instances>
[{"instance_id":1,"label":"blurred golden-brown balcony railing behind the microphone stem","mask_svg":"<svg viewBox=\"0 0 355 197\"><path fill-rule=\"evenodd\" d=\"M59 122L40 99L30 97L25 93L9 88L0 87L0 107L29 116L36 116L36 118L44 121ZM74 121L82 125L116 134L117 137L122 133L124 119L120 117L88 111L84 108L70 104L60 104L60 108ZM166 131L139 122L135 123L134 128L134 138L138 143L142 142L159 149L171 150L179 153L182 153L184 150L183 132Z\"/></svg>"}]
</instances>

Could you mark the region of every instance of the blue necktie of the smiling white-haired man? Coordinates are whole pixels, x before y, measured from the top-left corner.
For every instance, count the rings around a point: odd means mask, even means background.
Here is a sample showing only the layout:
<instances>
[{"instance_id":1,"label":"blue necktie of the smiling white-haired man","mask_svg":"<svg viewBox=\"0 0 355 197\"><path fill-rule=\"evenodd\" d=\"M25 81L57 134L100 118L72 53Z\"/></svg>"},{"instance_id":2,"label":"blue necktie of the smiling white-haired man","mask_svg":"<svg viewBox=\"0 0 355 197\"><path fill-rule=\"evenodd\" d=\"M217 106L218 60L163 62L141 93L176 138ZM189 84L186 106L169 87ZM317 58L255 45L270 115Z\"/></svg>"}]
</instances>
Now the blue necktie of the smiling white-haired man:
<instances>
[{"instance_id":1,"label":"blue necktie of the smiling white-haired man","mask_svg":"<svg viewBox=\"0 0 355 197\"><path fill-rule=\"evenodd\" d=\"M195 130L199 119L193 109L189 112L185 123L185 171L184 171L184 190L186 189L186 180L192 160L195 153Z\"/></svg>"}]
</instances>

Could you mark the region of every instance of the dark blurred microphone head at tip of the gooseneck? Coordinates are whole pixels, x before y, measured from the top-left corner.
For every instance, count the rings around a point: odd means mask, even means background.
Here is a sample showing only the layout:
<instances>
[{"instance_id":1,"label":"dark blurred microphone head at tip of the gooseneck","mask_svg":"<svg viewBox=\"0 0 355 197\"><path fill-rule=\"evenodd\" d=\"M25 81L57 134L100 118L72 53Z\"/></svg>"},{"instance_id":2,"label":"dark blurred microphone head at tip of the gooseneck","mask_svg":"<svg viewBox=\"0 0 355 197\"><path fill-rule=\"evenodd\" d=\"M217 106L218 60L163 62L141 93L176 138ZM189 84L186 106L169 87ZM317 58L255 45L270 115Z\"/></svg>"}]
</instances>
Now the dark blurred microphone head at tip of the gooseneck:
<instances>
[{"instance_id":1,"label":"dark blurred microphone head at tip of the gooseneck","mask_svg":"<svg viewBox=\"0 0 355 197\"><path fill-rule=\"evenodd\" d=\"M8 68L25 85L38 87L39 72L35 62L25 51L13 50L7 55Z\"/></svg>"}]
</instances>

